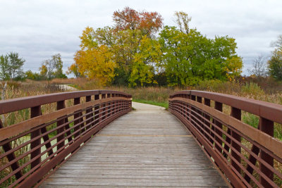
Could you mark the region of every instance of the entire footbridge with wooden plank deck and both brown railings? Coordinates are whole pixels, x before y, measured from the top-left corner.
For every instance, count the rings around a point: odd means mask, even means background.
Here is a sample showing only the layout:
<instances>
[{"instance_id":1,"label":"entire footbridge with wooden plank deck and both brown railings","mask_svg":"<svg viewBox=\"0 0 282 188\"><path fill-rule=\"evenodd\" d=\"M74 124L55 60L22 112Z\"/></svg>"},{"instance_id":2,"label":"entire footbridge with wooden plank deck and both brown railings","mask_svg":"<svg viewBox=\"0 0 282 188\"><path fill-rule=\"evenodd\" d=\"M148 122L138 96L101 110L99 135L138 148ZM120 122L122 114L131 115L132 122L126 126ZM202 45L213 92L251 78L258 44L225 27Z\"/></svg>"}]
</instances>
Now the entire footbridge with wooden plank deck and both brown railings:
<instances>
[{"instance_id":1,"label":"entire footbridge with wooden plank deck and both brown railings","mask_svg":"<svg viewBox=\"0 0 282 188\"><path fill-rule=\"evenodd\" d=\"M133 111L131 106L133 106ZM243 123L242 114L259 118ZM1 187L281 187L282 106L176 92L165 111L109 90L0 101Z\"/></svg>"}]
</instances>

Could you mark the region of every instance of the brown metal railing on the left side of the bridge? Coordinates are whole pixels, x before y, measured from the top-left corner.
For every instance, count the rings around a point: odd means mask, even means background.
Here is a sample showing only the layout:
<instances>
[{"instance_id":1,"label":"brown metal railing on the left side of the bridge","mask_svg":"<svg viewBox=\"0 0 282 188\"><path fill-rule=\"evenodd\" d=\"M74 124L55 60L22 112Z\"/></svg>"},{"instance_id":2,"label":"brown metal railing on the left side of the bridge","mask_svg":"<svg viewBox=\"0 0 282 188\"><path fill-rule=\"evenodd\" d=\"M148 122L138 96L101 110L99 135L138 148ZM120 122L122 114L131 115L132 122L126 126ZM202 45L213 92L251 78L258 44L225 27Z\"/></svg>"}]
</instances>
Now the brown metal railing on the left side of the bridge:
<instances>
[{"instance_id":1,"label":"brown metal railing on the left side of the bridge","mask_svg":"<svg viewBox=\"0 0 282 188\"><path fill-rule=\"evenodd\" d=\"M48 105L54 111L42 112L42 106ZM105 125L130 110L129 94L108 90L0 101L0 114L27 111L30 116L6 127L0 120L0 187L34 186Z\"/></svg>"}]
</instances>

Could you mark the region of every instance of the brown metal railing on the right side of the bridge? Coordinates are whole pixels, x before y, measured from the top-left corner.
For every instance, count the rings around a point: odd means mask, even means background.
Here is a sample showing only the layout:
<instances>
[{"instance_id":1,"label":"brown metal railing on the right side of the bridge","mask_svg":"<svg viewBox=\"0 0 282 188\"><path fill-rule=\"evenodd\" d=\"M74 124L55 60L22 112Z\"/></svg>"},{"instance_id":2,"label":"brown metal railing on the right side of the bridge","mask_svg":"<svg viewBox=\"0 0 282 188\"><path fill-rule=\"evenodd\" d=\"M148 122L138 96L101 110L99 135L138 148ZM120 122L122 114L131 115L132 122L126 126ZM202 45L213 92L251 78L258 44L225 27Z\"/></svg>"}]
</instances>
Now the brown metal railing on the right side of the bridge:
<instances>
[{"instance_id":1,"label":"brown metal railing on the right side of the bridge","mask_svg":"<svg viewBox=\"0 0 282 188\"><path fill-rule=\"evenodd\" d=\"M170 96L169 111L188 127L233 187L282 186L282 142L274 138L274 123L282 123L281 105L182 91ZM258 127L243 123L242 113L257 115Z\"/></svg>"}]
</instances>

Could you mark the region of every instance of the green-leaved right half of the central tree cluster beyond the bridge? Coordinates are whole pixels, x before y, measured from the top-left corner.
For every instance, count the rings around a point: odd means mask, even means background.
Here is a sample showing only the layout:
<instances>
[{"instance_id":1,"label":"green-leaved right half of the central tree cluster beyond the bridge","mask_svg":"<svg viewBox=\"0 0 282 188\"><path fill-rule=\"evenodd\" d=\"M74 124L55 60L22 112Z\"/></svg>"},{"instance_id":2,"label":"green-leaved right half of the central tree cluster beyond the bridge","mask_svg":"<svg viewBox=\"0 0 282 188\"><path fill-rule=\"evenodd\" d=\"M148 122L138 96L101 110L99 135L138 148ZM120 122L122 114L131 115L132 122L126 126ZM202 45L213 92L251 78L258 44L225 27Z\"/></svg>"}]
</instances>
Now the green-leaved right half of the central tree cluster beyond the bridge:
<instances>
[{"instance_id":1,"label":"green-leaved right half of the central tree cluster beyond the bridge","mask_svg":"<svg viewBox=\"0 0 282 188\"><path fill-rule=\"evenodd\" d=\"M168 84L195 85L199 80L233 80L240 75L242 59L235 54L235 39L208 39L195 29L189 33L164 27L159 42Z\"/></svg>"}]
</instances>

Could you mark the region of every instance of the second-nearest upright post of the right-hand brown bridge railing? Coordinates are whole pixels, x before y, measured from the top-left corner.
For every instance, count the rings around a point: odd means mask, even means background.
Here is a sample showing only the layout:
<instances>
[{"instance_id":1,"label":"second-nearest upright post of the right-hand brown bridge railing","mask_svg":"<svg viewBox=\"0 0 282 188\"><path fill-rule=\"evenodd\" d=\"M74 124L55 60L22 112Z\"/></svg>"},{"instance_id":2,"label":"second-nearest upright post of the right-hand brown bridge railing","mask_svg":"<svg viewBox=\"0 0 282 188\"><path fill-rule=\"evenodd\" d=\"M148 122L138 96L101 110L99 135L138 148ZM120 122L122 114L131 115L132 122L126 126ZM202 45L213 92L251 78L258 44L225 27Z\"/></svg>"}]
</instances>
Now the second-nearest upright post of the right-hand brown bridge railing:
<instances>
[{"instance_id":1,"label":"second-nearest upright post of the right-hand brown bridge railing","mask_svg":"<svg viewBox=\"0 0 282 188\"><path fill-rule=\"evenodd\" d=\"M231 107L231 116L233 118L241 120L241 110L238 108ZM231 131L231 136L233 137L233 139L237 140L238 142L241 142L241 137L236 132ZM239 144L236 144L235 142L231 141L231 146L233 147L233 149L241 153L241 146ZM233 156L235 160L240 163L241 158L237 153L233 151L233 149L231 149L231 156ZM231 160L231 165L233 165L233 167L240 173L240 167L235 163L235 161Z\"/></svg>"}]
</instances>

